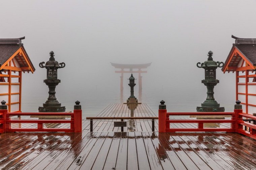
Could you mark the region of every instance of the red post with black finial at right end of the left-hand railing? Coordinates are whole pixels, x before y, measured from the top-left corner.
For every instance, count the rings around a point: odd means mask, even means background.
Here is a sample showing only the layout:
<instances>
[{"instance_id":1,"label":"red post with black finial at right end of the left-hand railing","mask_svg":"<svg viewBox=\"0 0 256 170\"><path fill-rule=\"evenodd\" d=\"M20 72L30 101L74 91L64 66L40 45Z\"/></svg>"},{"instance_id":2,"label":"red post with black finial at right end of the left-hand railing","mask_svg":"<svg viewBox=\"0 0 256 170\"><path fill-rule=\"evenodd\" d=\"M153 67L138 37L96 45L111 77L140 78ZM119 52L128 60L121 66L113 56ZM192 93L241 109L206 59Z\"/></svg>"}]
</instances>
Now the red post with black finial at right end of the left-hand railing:
<instances>
[{"instance_id":1,"label":"red post with black finial at right end of the left-hand railing","mask_svg":"<svg viewBox=\"0 0 256 170\"><path fill-rule=\"evenodd\" d=\"M78 100L74 105L74 132L82 132L82 108Z\"/></svg>"}]
</instances>

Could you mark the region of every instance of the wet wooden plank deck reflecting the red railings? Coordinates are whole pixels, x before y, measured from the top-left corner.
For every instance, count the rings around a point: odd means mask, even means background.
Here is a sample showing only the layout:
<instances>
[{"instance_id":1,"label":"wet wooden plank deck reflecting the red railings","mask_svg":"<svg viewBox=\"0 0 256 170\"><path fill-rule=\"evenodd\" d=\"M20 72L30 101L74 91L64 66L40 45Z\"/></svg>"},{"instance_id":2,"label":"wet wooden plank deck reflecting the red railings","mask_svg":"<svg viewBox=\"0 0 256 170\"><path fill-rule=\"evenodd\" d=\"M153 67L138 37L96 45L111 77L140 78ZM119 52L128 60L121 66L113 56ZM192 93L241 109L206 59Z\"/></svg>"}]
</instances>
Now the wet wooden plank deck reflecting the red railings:
<instances>
[{"instance_id":1,"label":"wet wooden plank deck reflecting the red railings","mask_svg":"<svg viewBox=\"0 0 256 170\"><path fill-rule=\"evenodd\" d=\"M134 113L126 104L110 104L98 116L157 115L142 103ZM152 132L151 120L130 120L127 125L121 132L113 120L94 121L94 132L89 132L90 121L83 120L82 133L0 134L0 169L256 169L256 140L246 136ZM36 128L35 124L12 126ZM192 123L175 126L196 127Z\"/></svg>"}]
</instances>

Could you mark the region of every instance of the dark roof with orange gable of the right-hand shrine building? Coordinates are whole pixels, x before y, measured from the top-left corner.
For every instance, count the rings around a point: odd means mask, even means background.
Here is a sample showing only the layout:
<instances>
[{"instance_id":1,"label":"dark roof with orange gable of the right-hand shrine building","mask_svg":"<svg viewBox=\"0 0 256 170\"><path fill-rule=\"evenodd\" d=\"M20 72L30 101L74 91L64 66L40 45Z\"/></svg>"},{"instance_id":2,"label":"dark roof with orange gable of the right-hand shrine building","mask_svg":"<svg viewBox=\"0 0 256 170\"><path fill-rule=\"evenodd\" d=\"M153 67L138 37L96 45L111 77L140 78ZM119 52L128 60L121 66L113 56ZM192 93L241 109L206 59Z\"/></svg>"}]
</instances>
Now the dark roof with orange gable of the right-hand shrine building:
<instances>
[{"instance_id":1,"label":"dark roof with orange gable of the right-hand shrine building","mask_svg":"<svg viewBox=\"0 0 256 170\"><path fill-rule=\"evenodd\" d=\"M239 65L244 61L246 67L238 69L239 71L256 69L256 38L238 38L233 35L231 37L235 39L235 43L228 54L222 71L224 73L237 71L238 67L243 67Z\"/></svg>"}]
</instances>

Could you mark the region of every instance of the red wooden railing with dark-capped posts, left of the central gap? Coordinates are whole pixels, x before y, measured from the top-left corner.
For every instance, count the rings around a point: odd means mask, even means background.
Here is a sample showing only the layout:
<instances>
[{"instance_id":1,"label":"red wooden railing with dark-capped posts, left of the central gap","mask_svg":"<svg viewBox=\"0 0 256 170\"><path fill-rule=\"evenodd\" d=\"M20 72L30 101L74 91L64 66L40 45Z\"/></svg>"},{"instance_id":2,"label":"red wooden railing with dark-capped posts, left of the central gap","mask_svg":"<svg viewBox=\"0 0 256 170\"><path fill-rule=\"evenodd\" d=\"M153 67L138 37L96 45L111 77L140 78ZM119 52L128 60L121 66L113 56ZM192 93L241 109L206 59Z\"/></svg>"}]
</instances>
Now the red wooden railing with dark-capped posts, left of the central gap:
<instances>
[{"instance_id":1,"label":"red wooden railing with dark-capped posts, left of the central gap","mask_svg":"<svg viewBox=\"0 0 256 170\"><path fill-rule=\"evenodd\" d=\"M79 102L79 101L78 101ZM0 109L4 108L5 101L1 102ZM76 102L77 103L77 102ZM79 102L80 103L80 102ZM4 132L82 132L81 105L74 106L73 113L8 113L7 108L0 110L0 133ZM5 105L5 106L4 106ZM11 119L11 116L70 116L70 120L35 120L35 119ZM12 123L37 123L37 128L11 128ZM44 128L44 123L69 123L70 128Z\"/></svg>"}]
</instances>

